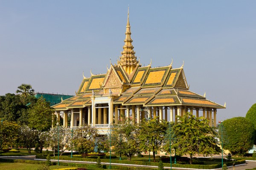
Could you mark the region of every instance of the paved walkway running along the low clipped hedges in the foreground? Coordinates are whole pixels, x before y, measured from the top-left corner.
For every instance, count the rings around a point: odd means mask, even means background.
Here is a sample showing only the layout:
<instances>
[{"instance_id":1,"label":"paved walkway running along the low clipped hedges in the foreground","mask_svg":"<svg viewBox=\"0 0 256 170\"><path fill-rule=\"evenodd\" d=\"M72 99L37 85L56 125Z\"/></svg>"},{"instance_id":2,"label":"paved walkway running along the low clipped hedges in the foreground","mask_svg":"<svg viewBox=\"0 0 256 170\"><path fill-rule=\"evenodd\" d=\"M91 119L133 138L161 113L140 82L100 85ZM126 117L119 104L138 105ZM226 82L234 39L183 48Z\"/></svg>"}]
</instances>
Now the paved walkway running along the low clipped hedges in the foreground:
<instances>
[{"instance_id":1,"label":"paved walkway running along the low clipped hedges in the foreground","mask_svg":"<svg viewBox=\"0 0 256 170\"><path fill-rule=\"evenodd\" d=\"M24 159L24 160L38 160L38 161L46 161L46 159L36 159L35 156L1 156L0 158L7 158L7 159ZM58 162L58 160L51 160ZM87 161L65 161L65 160L59 160L59 162L71 162L71 163L79 163L79 164L96 164L96 162L87 162ZM109 163L103 163L109 165ZM143 165L132 165L132 164L115 164L111 163L111 165L124 165L124 166L131 166L131 167L153 167L157 168L157 166L143 166ZM228 167L229 170L245 170L249 168L256 167L256 161L246 161L245 164L236 165L235 169L232 167ZM171 167L164 167L165 169L171 169ZM172 168L173 170L201 170L201 169L189 169L189 168ZM221 168L218 169L212 169L212 170L221 170Z\"/></svg>"}]
</instances>

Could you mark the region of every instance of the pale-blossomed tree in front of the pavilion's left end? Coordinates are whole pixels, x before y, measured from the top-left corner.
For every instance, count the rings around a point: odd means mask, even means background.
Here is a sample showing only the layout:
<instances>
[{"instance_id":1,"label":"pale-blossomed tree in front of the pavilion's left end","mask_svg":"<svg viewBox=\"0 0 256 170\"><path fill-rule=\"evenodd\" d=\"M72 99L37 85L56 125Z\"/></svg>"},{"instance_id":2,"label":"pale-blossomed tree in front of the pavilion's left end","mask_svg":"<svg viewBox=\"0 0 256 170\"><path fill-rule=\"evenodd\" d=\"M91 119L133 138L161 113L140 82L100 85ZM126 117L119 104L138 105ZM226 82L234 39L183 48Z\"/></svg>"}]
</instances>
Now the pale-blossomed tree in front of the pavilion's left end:
<instances>
[{"instance_id":1,"label":"pale-blossomed tree in front of the pavilion's left end","mask_svg":"<svg viewBox=\"0 0 256 170\"><path fill-rule=\"evenodd\" d=\"M48 131L45 145L52 149L54 156L55 151L58 151L59 146L59 150L61 152L60 156L62 156L64 151L69 149L71 145L71 139L72 136L70 128L57 126Z\"/></svg>"}]
</instances>

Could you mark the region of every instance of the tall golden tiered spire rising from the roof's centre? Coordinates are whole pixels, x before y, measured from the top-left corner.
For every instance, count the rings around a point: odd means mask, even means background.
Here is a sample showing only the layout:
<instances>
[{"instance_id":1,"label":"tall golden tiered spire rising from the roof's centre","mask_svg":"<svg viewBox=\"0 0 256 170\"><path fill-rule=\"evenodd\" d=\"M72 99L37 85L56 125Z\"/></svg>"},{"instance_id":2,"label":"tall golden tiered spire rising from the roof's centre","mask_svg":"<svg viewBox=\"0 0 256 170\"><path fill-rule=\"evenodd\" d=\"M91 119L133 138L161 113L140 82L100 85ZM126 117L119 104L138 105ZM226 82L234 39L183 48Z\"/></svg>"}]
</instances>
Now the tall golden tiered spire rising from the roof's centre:
<instances>
[{"instance_id":1,"label":"tall golden tiered spire rising from the roof's centre","mask_svg":"<svg viewBox=\"0 0 256 170\"><path fill-rule=\"evenodd\" d=\"M123 46L123 51L121 52L122 56L120 57L120 61L118 61L118 65L122 66L125 72L130 75L135 67L138 64L137 57L135 56L134 46L131 44L131 27L129 21L129 6L128 6L128 16L127 16L127 24L126 24L126 32L125 32L125 45Z\"/></svg>"}]
</instances>

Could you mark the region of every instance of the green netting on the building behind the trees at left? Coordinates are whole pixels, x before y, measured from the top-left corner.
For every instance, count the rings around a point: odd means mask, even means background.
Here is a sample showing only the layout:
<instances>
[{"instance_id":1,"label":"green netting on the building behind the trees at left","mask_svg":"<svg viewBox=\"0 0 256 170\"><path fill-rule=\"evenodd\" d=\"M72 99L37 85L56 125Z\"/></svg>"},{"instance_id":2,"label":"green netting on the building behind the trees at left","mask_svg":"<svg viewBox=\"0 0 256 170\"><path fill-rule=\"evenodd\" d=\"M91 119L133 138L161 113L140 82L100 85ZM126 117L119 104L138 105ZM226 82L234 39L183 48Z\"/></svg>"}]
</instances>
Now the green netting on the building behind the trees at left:
<instances>
[{"instance_id":1,"label":"green netting on the building behind the trees at left","mask_svg":"<svg viewBox=\"0 0 256 170\"><path fill-rule=\"evenodd\" d=\"M73 97L73 95L58 95L58 94L49 94L49 93L35 93L35 97L36 98L40 98L41 96L43 96L43 98L45 98L46 101L49 101L51 106L60 103L61 102L61 98L63 100L65 100L67 98Z\"/></svg>"}]
</instances>

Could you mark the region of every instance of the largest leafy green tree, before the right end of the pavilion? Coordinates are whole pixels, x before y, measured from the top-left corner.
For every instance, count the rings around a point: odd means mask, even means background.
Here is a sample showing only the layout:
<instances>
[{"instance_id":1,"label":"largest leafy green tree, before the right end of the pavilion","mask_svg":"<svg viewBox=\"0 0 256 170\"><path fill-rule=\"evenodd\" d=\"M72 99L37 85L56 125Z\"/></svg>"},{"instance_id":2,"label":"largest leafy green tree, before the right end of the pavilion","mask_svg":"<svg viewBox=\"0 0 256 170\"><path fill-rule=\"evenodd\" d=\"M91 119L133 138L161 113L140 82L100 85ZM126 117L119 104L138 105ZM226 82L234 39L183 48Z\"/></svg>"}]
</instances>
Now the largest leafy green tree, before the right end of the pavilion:
<instances>
[{"instance_id":1,"label":"largest leafy green tree, before the right end of the pavilion","mask_svg":"<svg viewBox=\"0 0 256 170\"><path fill-rule=\"evenodd\" d=\"M221 152L216 139L218 133L209 126L209 121L204 117L196 118L195 115L187 112L183 117L177 116L177 123L173 126L176 140L173 147L178 155L189 155L192 164L192 157L195 154L209 156Z\"/></svg>"}]
</instances>

